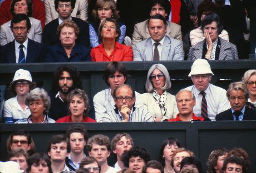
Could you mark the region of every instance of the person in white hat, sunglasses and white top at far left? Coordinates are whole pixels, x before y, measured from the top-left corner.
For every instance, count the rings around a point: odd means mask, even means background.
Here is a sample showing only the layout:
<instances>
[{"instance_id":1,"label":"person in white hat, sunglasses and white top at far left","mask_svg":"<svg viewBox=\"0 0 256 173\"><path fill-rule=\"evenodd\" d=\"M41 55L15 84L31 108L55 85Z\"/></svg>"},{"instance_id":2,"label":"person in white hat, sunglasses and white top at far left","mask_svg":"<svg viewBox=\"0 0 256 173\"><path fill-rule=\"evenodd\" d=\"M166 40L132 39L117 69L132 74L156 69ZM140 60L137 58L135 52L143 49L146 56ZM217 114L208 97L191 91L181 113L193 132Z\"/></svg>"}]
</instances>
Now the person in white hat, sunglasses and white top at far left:
<instances>
[{"instance_id":1,"label":"person in white hat, sunglasses and white top at far left","mask_svg":"<svg viewBox=\"0 0 256 173\"><path fill-rule=\"evenodd\" d=\"M31 74L27 70L17 70L11 82L11 91L16 96L8 99L4 103L4 123L15 123L19 119L28 118L30 110L26 105L25 100L31 87Z\"/></svg>"}]
</instances>

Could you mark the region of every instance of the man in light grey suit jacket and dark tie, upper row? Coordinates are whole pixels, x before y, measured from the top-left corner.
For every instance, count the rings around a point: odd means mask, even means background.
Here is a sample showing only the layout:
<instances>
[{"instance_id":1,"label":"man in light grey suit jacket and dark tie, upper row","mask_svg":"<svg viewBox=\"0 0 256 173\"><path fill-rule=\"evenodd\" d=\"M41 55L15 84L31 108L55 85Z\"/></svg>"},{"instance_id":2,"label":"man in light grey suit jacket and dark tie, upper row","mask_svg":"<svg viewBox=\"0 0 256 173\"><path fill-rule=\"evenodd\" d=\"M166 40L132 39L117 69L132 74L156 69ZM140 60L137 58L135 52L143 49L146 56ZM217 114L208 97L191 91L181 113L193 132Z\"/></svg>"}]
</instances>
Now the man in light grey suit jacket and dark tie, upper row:
<instances>
[{"instance_id":1,"label":"man in light grey suit jacket and dark tie, upper row","mask_svg":"<svg viewBox=\"0 0 256 173\"><path fill-rule=\"evenodd\" d=\"M147 26L150 38L136 44L134 61L184 59L182 42L165 35L167 23L161 14L155 14L150 17ZM159 54L157 59L154 59L155 48L157 48Z\"/></svg>"}]
</instances>

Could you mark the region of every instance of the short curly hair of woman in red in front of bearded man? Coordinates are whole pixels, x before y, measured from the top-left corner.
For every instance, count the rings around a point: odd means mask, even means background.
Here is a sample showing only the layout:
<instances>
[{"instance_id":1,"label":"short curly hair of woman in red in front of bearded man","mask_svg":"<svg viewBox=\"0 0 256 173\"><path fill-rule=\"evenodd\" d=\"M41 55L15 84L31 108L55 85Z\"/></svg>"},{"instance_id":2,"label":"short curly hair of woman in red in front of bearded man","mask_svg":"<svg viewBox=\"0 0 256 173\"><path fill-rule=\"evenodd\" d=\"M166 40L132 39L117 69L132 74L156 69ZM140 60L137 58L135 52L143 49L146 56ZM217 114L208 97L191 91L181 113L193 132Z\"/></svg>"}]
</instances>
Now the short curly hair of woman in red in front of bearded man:
<instances>
[{"instance_id":1,"label":"short curly hair of woman in red in front of bearded man","mask_svg":"<svg viewBox=\"0 0 256 173\"><path fill-rule=\"evenodd\" d=\"M73 96L79 96L84 102L85 102L85 108L86 110L83 111L83 117L88 116L88 113L90 111L90 100L88 95L86 94L85 90L82 89L73 89L68 95L67 95L67 105L69 107L70 101L73 98ZM70 109L68 109L68 115L71 115Z\"/></svg>"}]
</instances>

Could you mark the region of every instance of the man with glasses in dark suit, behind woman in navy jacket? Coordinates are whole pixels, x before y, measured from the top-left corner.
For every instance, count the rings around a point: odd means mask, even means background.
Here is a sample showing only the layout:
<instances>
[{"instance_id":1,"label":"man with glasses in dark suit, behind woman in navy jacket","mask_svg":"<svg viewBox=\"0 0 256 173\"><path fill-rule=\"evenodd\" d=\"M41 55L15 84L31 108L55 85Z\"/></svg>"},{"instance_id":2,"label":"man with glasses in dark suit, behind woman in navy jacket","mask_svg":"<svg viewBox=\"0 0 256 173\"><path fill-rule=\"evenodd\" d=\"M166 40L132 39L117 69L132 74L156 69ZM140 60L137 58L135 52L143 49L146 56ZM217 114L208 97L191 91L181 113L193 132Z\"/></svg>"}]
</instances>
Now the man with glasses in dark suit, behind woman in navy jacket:
<instances>
[{"instance_id":1,"label":"man with glasses in dark suit, behind woman in navy jacket","mask_svg":"<svg viewBox=\"0 0 256 173\"><path fill-rule=\"evenodd\" d=\"M45 26L43 30L43 38L42 41L44 44L51 46L57 43L60 43L60 38L57 36L57 27L68 19L74 21L79 30L80 35L78 35L76 42L87 47L90 46L90 38L89 38L89 26L88 23L82 21L81 19L71 17L71 13L75 8L76 0L55 0L55 9L58 12L58 18L54 19L50 23Z\"/></svg>"}]
</instances>

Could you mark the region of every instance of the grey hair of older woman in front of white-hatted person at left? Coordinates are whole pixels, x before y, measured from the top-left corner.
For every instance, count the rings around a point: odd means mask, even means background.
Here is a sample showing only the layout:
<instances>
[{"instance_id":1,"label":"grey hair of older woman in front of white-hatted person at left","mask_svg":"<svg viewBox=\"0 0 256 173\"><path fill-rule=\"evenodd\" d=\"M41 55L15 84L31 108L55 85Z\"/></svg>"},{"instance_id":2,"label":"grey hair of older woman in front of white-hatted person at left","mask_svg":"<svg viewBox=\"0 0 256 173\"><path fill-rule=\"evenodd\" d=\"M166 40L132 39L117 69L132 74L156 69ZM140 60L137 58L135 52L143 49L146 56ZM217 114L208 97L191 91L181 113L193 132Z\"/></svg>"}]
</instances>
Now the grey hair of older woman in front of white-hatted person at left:
<instances>
[{"instance_id":1,"label":"grey hair of older woman in front of white-hatted person at left","mask_svg":"<svg viewBox=\"0 0 256 173\"><path fill-rule=\"evenodd\" d=\"M35 101L35 100L43 100L43 106L45 107L45 110L43 110L43 114L47 114L50 107L51 107L51 98L46 92L45 89L43 88L35 88L31 90L26 97L26 105L29 105L30 101Z\"/></svg>"}]
</instances>

